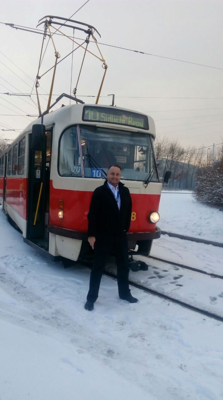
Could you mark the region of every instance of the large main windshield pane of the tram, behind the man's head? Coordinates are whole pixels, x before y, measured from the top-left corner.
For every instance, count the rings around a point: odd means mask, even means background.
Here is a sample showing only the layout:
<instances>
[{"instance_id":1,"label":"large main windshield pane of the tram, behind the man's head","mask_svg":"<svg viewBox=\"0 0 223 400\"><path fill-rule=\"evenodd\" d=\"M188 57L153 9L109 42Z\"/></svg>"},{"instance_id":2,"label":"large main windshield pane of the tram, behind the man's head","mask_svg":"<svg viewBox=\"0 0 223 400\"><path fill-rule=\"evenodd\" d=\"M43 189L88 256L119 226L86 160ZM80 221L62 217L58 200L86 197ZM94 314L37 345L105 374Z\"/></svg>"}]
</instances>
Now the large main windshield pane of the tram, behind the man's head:
<instances>
[{"instance_id":1,"label":"large main windshield pane of the tram, behind the man's head","mask_svg":"<svg viewBox=\"0 0 223 400\"><path fill-rule=\"evenodd\" d=\"M119 164L121 179L143 181L154 167L155 155L148 134L89 125L80 125L80 133L85 177L101 178L100 168L107 172L111 164ZM159 182L156 168L152 181Z\"/></svg>"}]
</instances>

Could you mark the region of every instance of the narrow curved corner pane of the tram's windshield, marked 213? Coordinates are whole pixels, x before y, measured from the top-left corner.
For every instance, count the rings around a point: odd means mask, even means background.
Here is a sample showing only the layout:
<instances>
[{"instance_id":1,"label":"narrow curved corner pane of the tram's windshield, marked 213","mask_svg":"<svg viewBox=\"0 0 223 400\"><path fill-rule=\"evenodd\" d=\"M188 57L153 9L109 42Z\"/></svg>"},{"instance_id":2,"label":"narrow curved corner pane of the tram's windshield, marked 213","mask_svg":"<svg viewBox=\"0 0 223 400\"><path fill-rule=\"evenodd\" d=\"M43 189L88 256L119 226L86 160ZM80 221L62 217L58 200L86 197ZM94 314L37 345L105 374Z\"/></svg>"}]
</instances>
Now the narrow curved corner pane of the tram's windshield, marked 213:
<instances>
[{"instance_id":1,"label":"narrow curved corner pane of the tram's windshield, marked 213","mask_svg":"<svg viewBox=\"0 0 223 400\"><path fill-rule=\"evenodd\" d=\"M59 174L61 176L82 176L77 126L67 128L61 137Z\"/></svg>"}]
</instances>

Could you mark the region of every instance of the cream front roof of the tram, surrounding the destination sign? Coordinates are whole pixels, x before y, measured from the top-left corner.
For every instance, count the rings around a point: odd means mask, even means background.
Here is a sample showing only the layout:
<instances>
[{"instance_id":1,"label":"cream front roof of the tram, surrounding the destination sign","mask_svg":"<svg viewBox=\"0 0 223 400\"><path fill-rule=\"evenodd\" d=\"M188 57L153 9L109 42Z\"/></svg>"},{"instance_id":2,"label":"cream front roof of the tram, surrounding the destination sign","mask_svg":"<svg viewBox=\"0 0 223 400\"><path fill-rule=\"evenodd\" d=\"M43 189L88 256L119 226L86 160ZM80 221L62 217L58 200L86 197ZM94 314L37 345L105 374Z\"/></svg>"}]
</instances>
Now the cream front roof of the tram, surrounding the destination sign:
<instances>
[{"instance_id":1,"label":"cream front roof of the tram, surrounding the destination sign","mask_svg":"<svg viewBox=\"0 0 223 400\"><path fill-rule=\"evenodd\" d=\"M67 122L69 122L69 124L91 124L91 125L99 125L102 127L107 127L107 128L111 128L111 126L108 126L107 123L102 123L102 122L96 122L96 121L92 121L92 122L87 122L87 121L83 121L82 120L82 110L84 106L89 106L89 107L103 107L103 108L110 108L110 109L118 109L118 110L123 110L123 111L128 111L128 112L134 112L136 114L140 114L143 116L148 117L148 122L149 122L149 130L145 130L145 129L141 129L139 127L131 127L131 126L126 126L126 125L118 125L118 129L120 129L120 126L123 127L124 130L127 130L129 128L130 131L137 131L137 132L142 132L142 133L147 133L147 134L151 134L154 139L156 138L156 129L155 129L155 123L152 117L148 116L147 114L144 114L142 112L138 112L135 110L130 110L128 108L122 108L122 107L114 107L114 106L107 106L107 105L103 105L103 104L70 104L67 106L62 106L61 108L49 112L49 114L45 114L43 116L43 124L47 127L50 126L52 124L63 124L64 126L67 126ZM78 114L76 114L76 111L78 110ZM75 112L74 112L75 111ZM61 118L63 116L63 118ZM66 122L66 124L64 123ZM32 121L28 126L26 126L26 128L14 139L14 141L18 141L20 140L24 134L26 133L30 133L32 132L32 126L34 124L41 124L41 117L37 118L36 120ZM112 124L112 128L115 129L115 124ZM10 144L10 146L8 148L6 148L2 154L6 151L8 151L11 146L14 144L14 141Z\"/></svg>"}]
</instances>

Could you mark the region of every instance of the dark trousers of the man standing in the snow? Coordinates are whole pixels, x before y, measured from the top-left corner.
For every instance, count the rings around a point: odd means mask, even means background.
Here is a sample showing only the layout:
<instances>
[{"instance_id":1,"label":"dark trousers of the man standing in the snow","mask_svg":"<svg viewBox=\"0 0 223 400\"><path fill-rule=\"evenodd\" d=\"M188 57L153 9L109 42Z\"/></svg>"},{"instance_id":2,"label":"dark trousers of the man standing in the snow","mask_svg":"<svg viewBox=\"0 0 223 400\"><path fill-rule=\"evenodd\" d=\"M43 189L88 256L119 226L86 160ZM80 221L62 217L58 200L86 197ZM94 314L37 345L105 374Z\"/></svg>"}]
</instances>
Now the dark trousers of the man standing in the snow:
<instances>
[{"instance_id":1,"label":"dark trousers of the man standing in the snow","mask_svg":"<svg viewBox=\"0 0 223 400\"><path fill-rule=\"evenodd\" d=\"M113 237L105 235L104 237L96 238L94 247L95 257L91 270L87 300L94 303L98 298L101 277L111 250L114 252L116 260L119 297L124 298L128 296L130 289L128 284L129 267L126 233L122 232L122 234L117 234Z\"/></svg>"}]
</instances>

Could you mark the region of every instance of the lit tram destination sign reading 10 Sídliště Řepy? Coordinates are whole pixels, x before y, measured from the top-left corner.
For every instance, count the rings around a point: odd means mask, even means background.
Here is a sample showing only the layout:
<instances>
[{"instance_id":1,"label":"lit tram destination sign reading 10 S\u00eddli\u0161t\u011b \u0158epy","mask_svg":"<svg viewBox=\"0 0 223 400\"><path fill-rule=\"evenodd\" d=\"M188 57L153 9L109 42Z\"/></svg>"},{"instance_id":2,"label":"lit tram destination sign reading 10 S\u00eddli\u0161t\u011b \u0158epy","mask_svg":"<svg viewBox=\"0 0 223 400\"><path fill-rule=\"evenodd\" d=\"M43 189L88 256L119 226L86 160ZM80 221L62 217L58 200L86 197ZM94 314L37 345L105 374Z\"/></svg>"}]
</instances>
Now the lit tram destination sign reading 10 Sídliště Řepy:
<instances>
[{"instance_id":1,"label":"lit tram destination sign reading 10 S\u00eddli\u0161t\u011b \u0158epy","mask_svg":"<svg viewBox=\"0 0 223 400\"><path fill-rule=\"evenodd\" d=\"M146 130L149 129L148 117L146 115L118 110L116 108L84 106L82 120L87 122L127 125Z\"/></svg>"}]
</instances>

